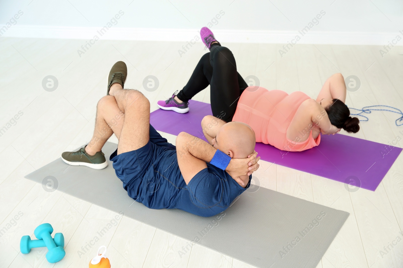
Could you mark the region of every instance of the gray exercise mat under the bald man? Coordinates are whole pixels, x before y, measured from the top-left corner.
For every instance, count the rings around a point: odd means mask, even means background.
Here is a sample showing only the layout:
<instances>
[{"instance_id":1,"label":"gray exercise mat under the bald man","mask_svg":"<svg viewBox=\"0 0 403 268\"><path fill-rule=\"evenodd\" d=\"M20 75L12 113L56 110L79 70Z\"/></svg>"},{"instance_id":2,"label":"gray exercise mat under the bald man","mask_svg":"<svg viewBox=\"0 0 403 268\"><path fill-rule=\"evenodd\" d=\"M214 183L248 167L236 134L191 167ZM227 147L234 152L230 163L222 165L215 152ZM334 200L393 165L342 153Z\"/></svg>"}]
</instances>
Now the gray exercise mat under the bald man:
<instances>
[{"instance_id":1,"label":"gray exercise mat under the bald man","mask_svg":"<svg viewBox=\"0 0 403 268\"><path fill-rule=\"evenodd\" d=\"M108 156L116 149L106 143ZM109 162L109 160L108 160ZM56 178L56 180L52 177ZM25 176L256 267L315 268L349 213L263 187L251 186L223 213L199 217L149 209L127 195L112 162L103 170L69 166L60 158ZM190 250L190 248L188 248ZM186 249L178 258L189 254Z\"/></svg>"}]
</instances>

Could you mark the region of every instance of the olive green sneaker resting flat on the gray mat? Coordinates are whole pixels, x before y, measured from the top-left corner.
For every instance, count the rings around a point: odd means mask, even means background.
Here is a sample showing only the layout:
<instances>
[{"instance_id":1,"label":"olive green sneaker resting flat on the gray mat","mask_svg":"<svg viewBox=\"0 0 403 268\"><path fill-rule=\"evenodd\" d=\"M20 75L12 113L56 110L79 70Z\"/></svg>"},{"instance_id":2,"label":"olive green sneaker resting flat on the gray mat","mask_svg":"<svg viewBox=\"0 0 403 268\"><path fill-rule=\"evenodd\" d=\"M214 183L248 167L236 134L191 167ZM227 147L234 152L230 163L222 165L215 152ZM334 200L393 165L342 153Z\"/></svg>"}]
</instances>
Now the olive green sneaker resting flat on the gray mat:
<instances>
[{"instance_id":1,"label":"olive green sneaker resting flat on the gray mat","mask_svg":"<svg viewBox=\"0 0 403 268\"><path fill-rule=\"evenodd\" d=\"M96 170L102 170L108 166L102 151L91 156L85 152L85 147L75 152L62 153L62 160L72 166L87 166Z\"/></svg>"}]
</instances>

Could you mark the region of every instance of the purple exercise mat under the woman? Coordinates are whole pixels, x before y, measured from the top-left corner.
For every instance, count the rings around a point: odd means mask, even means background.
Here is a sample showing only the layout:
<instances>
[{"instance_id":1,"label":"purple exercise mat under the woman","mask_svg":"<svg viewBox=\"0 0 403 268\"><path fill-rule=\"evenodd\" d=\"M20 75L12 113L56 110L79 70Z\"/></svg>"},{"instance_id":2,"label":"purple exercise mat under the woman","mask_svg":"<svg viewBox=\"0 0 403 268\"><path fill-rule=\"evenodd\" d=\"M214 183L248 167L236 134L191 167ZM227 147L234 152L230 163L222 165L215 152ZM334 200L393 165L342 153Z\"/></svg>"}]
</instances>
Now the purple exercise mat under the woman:
<instances>
[{"instance_id":1,"label":"purple exercise mat under the woman","mask_svg":"<svg viewBox=\"0 0 403 268\"><path fill-rule=\"evenodd\" d=\"M189 104L186 114L162 109L152 112L151 125L173 135L185 131L206 140L200 122L212 115L211 106L195 100ZM322 135L318 146L302 152L282 151L264 143L256 143L255 150L262 160L375 191L402 148L336 134Z\"/></svg>"}]
</instances>

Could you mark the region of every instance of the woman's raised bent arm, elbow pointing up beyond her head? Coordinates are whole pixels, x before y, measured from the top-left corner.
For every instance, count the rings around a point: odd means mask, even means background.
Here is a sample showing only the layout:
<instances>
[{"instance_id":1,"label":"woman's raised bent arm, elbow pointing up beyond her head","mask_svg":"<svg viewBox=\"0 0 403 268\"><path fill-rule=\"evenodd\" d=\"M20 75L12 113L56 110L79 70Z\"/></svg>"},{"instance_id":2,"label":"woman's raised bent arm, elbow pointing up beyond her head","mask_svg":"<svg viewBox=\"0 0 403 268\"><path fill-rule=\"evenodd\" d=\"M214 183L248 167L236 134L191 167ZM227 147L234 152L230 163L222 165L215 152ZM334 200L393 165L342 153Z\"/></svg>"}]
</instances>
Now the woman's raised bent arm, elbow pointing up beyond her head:
<instances>
[{"instance_id":1,"label":"woman's raised bent arm, elbow pointing up beyond her head","mask_svg":"<svg viewBox=\"0 0 403 268\"><path fill-rule=\"evenodd\" d=\"M317 102L322 99L339 99L342 102L346 101L346 83L344 82L344 77L342 74L334 74L326 80L322 90L320 90Z\"/></svg>"}]
</instances>

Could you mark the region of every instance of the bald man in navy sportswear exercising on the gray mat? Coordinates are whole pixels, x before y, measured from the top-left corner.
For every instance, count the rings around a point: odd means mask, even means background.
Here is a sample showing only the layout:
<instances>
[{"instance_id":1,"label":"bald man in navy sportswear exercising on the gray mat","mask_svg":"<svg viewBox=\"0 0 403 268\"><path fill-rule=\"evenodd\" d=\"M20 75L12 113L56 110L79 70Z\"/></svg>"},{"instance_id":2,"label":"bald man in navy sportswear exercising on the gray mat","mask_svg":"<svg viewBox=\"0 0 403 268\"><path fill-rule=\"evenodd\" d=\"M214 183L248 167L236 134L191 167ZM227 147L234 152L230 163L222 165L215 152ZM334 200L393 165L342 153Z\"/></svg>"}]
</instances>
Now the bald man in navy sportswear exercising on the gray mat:
<instances>
[{"instance_id":1,"label":"bald man in navy sportswear exercising on the gray mat","mask_svg":"<svg viewBox=\"0 0 403 268\"><path fill-rule=\"evenodd\" d=\"M131 198L152 209L181 209L204 217L224 211L249 187L259 167L253 130L244 123L206 117L202 127L210 144L181 132L175 147L150 125L147 98L123 89L126 76L126 64L115 63L107 96L97 105L91 141L76 152L64 152L62 160L105 168L101 149L114 133L119 143L110 160Z\"/></svg>"}]
</instances>

